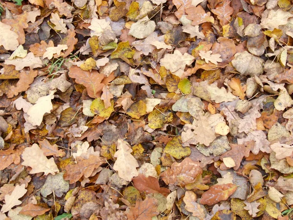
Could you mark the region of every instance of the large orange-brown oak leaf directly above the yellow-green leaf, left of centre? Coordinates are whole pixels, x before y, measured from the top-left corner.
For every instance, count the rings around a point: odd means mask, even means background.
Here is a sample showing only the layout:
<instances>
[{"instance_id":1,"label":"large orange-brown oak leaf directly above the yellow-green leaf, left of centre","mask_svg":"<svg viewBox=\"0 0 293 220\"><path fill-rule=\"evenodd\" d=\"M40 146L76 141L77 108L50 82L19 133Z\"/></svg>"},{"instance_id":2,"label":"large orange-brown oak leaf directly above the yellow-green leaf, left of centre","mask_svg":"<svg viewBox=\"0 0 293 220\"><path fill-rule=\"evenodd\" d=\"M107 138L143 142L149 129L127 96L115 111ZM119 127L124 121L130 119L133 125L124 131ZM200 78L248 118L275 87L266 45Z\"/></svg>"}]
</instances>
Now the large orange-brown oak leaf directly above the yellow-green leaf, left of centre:
<instances>
[{"instance_id":1,"label":"large orange-brown oak leaf directly above the yellow-green leaf, left of centre","mask_svg":"<svg viewBox=\"0 0 293 220\"><path fill-rule=\"evenodd\" d=\"M84 71L80 67L71 66L69 69L69 77L74 78L76 83L86 87L87 93L92 98L100 97L104 84L102 80L104 75L98 73L97 70Z\"/></svg>"}]
</instances>

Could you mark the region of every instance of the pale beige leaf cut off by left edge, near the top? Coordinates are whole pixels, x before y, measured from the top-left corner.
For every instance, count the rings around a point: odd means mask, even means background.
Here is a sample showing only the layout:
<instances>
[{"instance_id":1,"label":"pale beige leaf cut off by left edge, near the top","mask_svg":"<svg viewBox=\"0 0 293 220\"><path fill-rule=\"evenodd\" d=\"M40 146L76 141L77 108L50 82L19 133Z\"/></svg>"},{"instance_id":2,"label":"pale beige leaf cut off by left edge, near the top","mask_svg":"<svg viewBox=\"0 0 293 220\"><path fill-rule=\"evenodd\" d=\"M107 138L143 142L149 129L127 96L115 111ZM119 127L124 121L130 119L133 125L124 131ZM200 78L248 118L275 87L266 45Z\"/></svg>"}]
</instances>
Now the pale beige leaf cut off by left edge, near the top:
<instances>
[{"instance_id":1,"label":"pale beige leaf cut off by left edge, near the top","mask_svg":"<svg viewBox=\"0 0 293 220\"><path fill-rule=\"evenodd\" d=\"M18 34L10 30L11 26L0 22L0 46L6 50L16 50L19 45Z\"/></svg>"}]
</instances>

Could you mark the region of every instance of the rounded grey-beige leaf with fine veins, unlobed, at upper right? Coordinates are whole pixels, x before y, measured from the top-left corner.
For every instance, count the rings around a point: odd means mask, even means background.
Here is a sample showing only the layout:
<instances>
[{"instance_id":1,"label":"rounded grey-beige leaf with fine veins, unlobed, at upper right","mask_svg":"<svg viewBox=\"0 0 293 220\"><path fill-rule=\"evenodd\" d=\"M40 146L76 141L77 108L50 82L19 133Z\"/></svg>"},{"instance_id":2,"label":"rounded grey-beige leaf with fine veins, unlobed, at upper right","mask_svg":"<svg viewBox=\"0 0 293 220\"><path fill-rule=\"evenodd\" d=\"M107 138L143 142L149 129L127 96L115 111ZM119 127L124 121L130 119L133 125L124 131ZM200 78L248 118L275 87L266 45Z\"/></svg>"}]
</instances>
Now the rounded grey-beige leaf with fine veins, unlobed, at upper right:
<instances>
[{"instance_id":1,"label":"rounded grey-beige leaf with fine veins, unlobed, at upper right","mask_svg":"<svg viewBox=\"0 0 293 220\"><path fill-rule=\"evenodd\" d=\"M249 64L249 65L247 65ZM243 75L259 76L264 71L264 60L252 55L251 53L244 51L236 53L232 60L234 68Z\"/></svg>"}]
</instances>

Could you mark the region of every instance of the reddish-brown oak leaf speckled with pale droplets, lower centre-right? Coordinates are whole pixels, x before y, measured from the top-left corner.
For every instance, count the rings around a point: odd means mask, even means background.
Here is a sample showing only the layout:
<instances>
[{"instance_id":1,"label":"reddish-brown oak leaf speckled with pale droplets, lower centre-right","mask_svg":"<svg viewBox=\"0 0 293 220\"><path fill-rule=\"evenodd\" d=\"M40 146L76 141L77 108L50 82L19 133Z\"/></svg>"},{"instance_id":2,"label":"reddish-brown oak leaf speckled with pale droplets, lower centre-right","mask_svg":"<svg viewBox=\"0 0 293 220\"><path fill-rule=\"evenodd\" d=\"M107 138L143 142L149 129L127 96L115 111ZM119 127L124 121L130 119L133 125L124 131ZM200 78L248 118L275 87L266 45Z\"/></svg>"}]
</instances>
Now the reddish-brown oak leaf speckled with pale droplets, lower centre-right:
<instances>
[{"instance_id":1,"label":"reddish-brown oak leaf speckled with pale droplets, lower centre-right","mask_svg":"<svg viewBox=\"0 0 293 220\"><path fill-rule=\"evenodd\" d=\"M189 183L193 183L202 172L199 162L194 162L187 157L181 163L174 162L171 168L161 174L161 177L166 184L176 184L184 187Z\"/></svg>"}]
</instances>

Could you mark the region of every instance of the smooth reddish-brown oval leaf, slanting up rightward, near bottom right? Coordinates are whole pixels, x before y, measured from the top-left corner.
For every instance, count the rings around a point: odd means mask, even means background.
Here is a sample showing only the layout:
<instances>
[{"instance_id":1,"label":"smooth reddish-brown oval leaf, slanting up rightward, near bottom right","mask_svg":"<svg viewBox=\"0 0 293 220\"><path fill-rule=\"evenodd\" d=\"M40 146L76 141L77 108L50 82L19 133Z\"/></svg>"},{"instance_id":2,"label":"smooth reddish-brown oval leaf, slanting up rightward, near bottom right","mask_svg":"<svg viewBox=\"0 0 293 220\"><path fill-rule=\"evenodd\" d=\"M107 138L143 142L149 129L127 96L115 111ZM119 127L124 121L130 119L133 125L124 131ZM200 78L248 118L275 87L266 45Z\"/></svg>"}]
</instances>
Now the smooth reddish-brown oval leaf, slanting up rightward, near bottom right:
<instances>
[{"instance_id":1,"label":"smooth reddish-brown oval leaf, slanting up rightward, near bottom right","mask_svg":"<svg viewBox=\"0 0 293 220\"><path fill-rule=\"evenodd\" d=\"M223 185L213 185L208 191L204 192L200 203L203 205L214 205L219 201L227 200L237 189L232 183Z\"/></svg>"}]
</instances>

